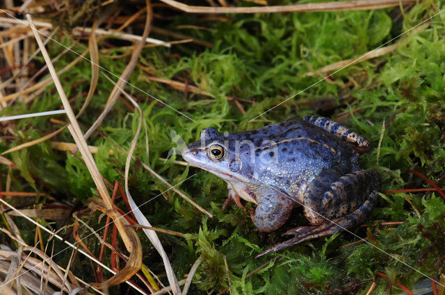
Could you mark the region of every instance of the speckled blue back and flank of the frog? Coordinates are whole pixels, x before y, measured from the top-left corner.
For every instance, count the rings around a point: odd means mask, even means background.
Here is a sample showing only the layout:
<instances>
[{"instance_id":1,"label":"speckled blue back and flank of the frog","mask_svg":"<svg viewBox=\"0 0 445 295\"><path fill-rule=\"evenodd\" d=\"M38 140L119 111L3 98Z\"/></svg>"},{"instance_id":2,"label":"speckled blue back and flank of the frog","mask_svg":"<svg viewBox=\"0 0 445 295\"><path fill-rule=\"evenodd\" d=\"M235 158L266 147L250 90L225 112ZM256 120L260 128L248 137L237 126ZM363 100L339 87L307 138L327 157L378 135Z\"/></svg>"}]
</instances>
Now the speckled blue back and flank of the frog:
<instances>
[{"instance_id":1,"label":"speckled blue back and flank of the frog","mask_svg":"<svg viewBox=\"0 0 445 295\"><path fill-rule=\"evenodd\" d=\"M307 121L291 120L232 136L254 143L255 178L291 195L304 191L324 169L341 166L348 173L358 168L353 146Z\"/></svg>"}]
</instances>

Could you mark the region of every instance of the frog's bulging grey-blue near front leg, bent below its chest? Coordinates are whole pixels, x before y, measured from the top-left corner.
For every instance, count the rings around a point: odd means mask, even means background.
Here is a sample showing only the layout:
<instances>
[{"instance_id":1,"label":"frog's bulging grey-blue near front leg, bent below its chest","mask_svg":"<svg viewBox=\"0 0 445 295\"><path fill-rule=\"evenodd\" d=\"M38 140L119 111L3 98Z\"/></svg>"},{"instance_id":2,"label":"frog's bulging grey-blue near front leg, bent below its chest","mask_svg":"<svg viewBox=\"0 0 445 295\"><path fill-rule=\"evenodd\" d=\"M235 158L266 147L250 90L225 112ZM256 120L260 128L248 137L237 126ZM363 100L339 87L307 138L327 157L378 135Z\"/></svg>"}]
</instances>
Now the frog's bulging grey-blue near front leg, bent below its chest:
<instances>
[{"instance_id":1,"label":"frog's bulging grey-blue near front leg, bent below its chest","mask_svg":"<svg viewBox=\"0 0 445 295\"><path fill-rule=\"evenodd\" d=\"M262 232L280 228L291 216L296 202L275 187L264 185L256 189L256 193L261 198L254 214L255 226Z\"/></svg>"}]
</instances>

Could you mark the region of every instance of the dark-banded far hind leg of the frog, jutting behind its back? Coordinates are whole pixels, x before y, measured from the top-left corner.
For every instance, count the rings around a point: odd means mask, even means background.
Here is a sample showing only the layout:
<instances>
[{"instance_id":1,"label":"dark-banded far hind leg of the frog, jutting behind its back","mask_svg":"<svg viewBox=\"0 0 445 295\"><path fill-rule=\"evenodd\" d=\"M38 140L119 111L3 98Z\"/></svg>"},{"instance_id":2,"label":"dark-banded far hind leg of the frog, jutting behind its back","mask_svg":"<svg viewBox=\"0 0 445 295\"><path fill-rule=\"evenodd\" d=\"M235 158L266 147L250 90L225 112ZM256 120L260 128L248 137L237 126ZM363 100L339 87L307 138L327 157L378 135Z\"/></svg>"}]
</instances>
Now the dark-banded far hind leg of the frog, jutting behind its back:
<instances>
[{"instance_id":1,"label":"dark-banded far hind leg of the frog, jutting behind its back","mask_svg":"<svg viewBox=\"0 0 445 295\"><path fill-rule=\"evenodd\" d=\"M323 128L327 132L341 138L341 140L352 144L359 153L364 153L371 147L371 144L368 140L366 140L366 138L358 135L357 133L353 132L353 130L346 128L345 126L332 121L331 119L327 119L325 117L304 117L303 120Z\"/></svg>"}]
</instances>

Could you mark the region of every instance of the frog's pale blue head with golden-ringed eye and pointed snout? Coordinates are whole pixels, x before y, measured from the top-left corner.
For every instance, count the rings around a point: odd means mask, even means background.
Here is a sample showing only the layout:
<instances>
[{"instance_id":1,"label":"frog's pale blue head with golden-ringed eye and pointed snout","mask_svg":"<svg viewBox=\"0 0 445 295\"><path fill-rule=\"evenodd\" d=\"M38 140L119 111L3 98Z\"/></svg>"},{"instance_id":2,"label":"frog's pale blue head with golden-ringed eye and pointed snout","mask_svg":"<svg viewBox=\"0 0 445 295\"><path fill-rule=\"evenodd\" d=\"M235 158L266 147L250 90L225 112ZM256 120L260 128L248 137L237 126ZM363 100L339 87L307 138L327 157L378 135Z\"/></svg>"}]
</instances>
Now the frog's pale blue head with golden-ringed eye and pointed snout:
<instances>
[{"instance_id":1,"label":"frog's pale blue head with golden-ringed eye and pointed snout","mask_svg":"<svg viewBox=\"0 0 445 295\"><path fill-rule=\"evenodd\" d=\"M182 151L182 158L229 183L249 183L252 179L251 165L242 160L235 146L229 135L223 135L212 127L205 128L201 131L200 140Z\"/></svg>"}]
</instances>

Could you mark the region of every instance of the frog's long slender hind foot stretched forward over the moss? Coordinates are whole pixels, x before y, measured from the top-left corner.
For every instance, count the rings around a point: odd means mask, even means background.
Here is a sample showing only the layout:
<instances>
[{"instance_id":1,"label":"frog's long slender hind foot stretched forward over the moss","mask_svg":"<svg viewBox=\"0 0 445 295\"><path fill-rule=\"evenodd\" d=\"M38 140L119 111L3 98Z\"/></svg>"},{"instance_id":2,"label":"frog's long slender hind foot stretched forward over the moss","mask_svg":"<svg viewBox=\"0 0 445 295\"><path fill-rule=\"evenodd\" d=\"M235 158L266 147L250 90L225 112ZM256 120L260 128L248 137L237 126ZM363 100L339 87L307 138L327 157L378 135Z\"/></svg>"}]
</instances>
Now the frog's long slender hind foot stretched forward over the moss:
<instances>
[{"instance_id":1,"label":"frog's long slender hind foot stretched forward over the moss","mask_svg":"<svg viewBox=\"0 0 445 295\"><path fill-rule=\"evenodd\" d=\"M266 251L257 255L256 258L259 258L268 253L280 251L284 248L289 248L290 246L308 241L309 239L316 239L317 237L332 235L334 233L337 233L337 231L339 230L346 230L348 228L358 226L369 217L377 200L378 190L375 189L373 192L371 192L368 199L363 203L363 205L361 205L359 208L346 215L345 217L333 220L326 220L319 226L300 226L299 228L288 230L283 235L293 235L293 238L288 239L287 241L277 244L271 248L268 248Z\"/></svg>"}]
</instances>

